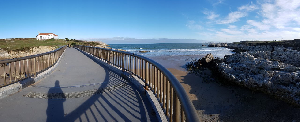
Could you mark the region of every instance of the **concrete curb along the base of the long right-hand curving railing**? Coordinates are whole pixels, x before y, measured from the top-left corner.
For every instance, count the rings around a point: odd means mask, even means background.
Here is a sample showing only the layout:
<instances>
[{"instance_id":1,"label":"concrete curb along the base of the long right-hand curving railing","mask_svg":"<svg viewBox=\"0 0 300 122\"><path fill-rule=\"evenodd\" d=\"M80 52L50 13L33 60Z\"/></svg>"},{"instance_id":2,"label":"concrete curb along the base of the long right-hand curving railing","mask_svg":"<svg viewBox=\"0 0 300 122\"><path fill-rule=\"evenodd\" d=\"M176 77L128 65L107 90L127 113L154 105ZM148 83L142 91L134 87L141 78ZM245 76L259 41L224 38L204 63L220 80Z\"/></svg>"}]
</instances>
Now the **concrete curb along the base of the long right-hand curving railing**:
<instances>
[{"instance_id":1,"label":"concrete curb along the base of the long right-hand curving railing","mask_svg":"<svg viewBox=\"0 0 300 122\"><path fill-rule=\"evenodd\" d=\"M76 48L77 49L77 48ZM77 49L79 50L79 49ZM129 83L133 84L134 86L136 86L137 88L140 89L140 91L142 93L144 93L147 98L150 100L150 103L152 105L153 110L155 111L156 117L158 118L158 121L160 122L167 122L167 117L165 116L164 110L161 108L161 104L158 102L156 96L152 93L151 90L146 90L144 89L143 84L145 84L143 82L143 80L141 80L140 78L134 76L133 74L129 73L129 72L122 72L122 69L120 67L117 67L115 65L112 64L107 64L107 61L104 61L102 59L98 59L96 57L94 57L93 55L90 55L86 52L83 52L82 50L79 50L80 52L82 52L83 54L86 54L87 56L95 59L94 61L97 61L98 63L101 63L105 66L107 66L108 68L110 68L113 72L121 75L125 80L129 81Z\"/></svg>"}]
</instances>

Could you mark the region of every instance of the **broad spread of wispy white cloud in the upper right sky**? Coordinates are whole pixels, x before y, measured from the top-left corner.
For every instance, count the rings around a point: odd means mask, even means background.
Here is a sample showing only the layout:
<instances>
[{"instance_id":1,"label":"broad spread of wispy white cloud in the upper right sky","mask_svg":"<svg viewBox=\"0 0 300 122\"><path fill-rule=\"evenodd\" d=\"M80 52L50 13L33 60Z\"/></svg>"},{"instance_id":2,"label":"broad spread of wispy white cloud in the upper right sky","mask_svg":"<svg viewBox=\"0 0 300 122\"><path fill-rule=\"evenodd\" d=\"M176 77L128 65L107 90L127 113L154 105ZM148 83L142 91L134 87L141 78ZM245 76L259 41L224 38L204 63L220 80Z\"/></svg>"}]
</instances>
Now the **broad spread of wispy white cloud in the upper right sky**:
<instances>
[{"instance_id":1,"label":"broad spread of wispy white cloud in the upper right sky","mask_svg":"<svg viewBox=\"0 0 300 122\"><path fill-rule=\"evenodd\" d=\"M208 9L202 13L207 21L203 21L205 29L198 34L206 40L290 40L300 37L299 0L250 2L226 16Z\"/></svg>"}]
</instances>

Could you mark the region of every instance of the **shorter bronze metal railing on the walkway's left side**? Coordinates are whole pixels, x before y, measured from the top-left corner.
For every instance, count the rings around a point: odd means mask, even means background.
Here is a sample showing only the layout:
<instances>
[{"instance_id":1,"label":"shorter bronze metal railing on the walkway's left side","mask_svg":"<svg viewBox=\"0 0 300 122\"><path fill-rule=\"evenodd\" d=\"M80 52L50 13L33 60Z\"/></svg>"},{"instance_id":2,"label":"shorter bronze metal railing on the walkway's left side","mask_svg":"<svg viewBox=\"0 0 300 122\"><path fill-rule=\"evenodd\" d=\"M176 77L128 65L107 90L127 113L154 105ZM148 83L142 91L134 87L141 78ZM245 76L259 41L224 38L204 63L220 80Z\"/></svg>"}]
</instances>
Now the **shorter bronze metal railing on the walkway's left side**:
<instances>
[{"instance_id":1,"label":"shorter bronze metal railing on the walkway's left side","mask_svg":"<svg viewBox=\"0 0 300 122\"><path fill-rule=\"evenodd\" d=\"M53 67L66 48L64 45L51 52L0 61L0 88L28 77L36 77L38 73Z\"/></svg>"}]
</instances>

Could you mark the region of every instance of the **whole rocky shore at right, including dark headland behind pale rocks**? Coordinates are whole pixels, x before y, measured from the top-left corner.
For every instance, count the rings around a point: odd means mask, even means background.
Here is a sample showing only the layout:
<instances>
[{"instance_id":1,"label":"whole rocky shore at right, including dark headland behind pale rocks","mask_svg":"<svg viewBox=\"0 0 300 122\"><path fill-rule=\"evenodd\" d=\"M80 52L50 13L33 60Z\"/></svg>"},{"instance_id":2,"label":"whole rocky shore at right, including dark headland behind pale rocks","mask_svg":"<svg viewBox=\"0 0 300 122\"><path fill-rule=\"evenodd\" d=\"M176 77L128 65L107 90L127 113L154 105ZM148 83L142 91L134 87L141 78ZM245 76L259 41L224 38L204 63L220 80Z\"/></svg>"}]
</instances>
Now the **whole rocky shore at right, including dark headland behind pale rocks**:
<instances>
[{"instance_id":1,"label":"whole rocky shore at right, including dark headland behind pale rocks","mask_svg":"<svg viewBox=\"0 0 300 122\"><path fill-rule=\"evenodd\" d=\"M300 108L299 47L300 39L232 43L226 48L235 49L236 54L217 59L207 54L187 69L207 67L219 83L263 92Z\"/></svg>"}]
</instances>

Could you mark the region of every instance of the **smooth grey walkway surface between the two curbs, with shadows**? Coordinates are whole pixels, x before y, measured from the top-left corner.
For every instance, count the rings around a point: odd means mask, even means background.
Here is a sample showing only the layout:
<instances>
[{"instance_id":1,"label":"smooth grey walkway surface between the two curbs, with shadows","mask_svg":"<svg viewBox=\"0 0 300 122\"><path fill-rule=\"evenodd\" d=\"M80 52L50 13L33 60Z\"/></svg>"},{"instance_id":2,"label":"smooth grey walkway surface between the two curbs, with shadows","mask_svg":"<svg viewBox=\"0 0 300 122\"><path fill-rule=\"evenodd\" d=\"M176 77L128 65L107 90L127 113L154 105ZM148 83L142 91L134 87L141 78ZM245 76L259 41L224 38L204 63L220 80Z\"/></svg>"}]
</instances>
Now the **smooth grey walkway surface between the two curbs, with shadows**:
<instances>
[{"instance_id":1,"label":"smooth grey walkway surface between the two curbs, with shadows","mask_svg":"<svg viewBox=\"0 0 300 122\"><path fill-rule=\"evenodd\" d=\"M0 99L0 121L157 121L148 99L103 64L67 48L43 80Z\"/></svg>"}]
</instances>

